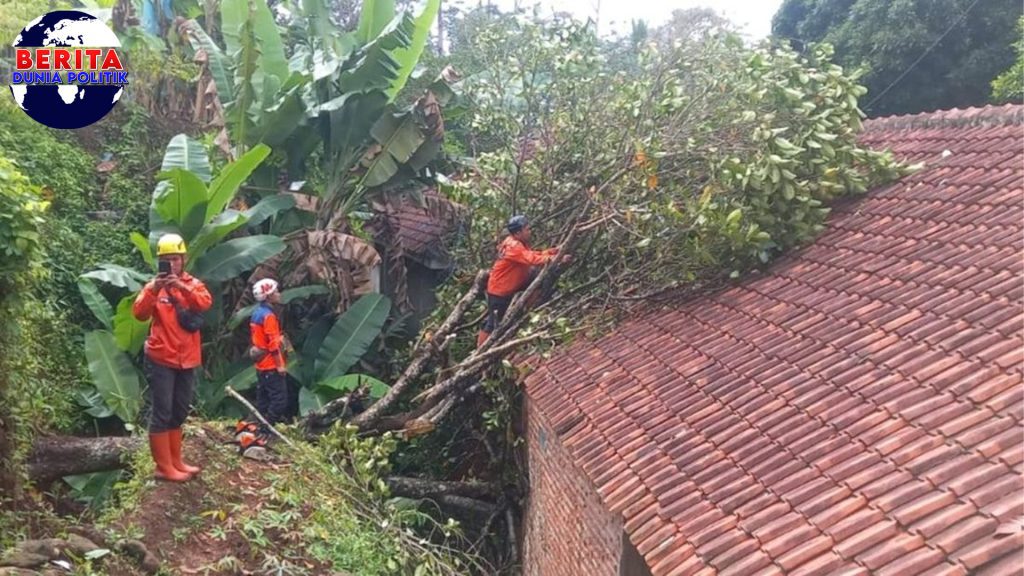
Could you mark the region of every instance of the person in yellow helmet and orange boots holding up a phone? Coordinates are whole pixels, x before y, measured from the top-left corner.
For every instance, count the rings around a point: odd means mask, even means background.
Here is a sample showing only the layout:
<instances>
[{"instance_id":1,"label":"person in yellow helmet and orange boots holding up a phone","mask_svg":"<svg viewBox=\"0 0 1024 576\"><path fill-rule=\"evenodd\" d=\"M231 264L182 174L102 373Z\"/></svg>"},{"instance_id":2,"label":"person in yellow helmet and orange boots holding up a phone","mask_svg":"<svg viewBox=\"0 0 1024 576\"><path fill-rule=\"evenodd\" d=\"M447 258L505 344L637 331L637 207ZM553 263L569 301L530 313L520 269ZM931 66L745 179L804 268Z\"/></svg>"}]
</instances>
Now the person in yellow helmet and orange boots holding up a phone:
<instances>
[{"instance_id":1,"label":"person in yellow helmet and orange boots holding up a phone","mask_svg":"<svg viewBox=\"0 0 1024 576\"><path fill-rule=\"evenodd\" d=\"M158 274L135 298L132 314L153 320L143 368L150 383L150 452L156 477L184 482L200 468L181 459L181 425L188 416L196 368L203 364L202 313L213 299L206 286L184 272L185 242L166 234L157 242Z\"/></svg>"}]
</instances>

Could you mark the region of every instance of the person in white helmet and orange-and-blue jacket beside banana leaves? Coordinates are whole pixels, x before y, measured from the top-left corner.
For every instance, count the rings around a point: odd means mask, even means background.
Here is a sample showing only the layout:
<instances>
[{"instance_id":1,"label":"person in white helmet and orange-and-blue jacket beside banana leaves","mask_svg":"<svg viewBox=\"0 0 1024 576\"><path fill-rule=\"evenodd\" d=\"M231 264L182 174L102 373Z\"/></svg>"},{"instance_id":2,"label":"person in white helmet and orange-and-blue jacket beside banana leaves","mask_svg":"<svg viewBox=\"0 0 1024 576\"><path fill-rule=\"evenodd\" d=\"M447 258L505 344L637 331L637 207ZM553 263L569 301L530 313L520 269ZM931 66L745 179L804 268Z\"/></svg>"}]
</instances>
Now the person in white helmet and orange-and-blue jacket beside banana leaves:
<instances>
[{"instance_id":1,"label":"person in white helmet and orange-and-blue jacket beside banana leaves","mask_svg":"<svg viewBox=\"0 0 1024 576\"><path fill-rule=\"evenodd\" d=\"M256 409L271 425L289 420L286 341L272 304L281 303L278 282L269 278L253 285L256 310L249 320L252 356L256 361ZM264 435L270 430L262 430Z\"/></svg>"}]
</instances>

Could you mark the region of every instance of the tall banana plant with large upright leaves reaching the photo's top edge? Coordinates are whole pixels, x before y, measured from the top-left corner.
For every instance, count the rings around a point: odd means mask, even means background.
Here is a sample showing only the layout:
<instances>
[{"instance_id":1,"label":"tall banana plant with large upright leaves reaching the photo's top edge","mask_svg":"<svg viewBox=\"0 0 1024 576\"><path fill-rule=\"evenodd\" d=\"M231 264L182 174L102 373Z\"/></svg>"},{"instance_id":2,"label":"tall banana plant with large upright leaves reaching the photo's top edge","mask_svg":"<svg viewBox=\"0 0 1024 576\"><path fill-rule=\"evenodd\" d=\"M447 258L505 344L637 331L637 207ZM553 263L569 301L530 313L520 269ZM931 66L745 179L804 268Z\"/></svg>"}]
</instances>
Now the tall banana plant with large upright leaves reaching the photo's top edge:
<instances>
[{"instance_id":1,"label":"tall banana plant with large upright leaves reaching the photo's top edge","mask_svg":"<svg viewBox=\"0 0 1024 576\"><path fill-rule=\"evenodd\" d=\"M292 22L298 44L286 57L285 43L272 14L263 2L224 0L221 3L224 47L218 46L195 20L181 25L193 47L209 63L226 132L236 150L263 142L286 156L291 175L301 174L309 155L323 149L331 174L325 196L345 191L348 171L368 149L392 139L380 135L378 124L395 114L389 108L419 61L439 0L428 0L416 16L395 14L392 0L367 0L358 29L333 29L322 2L303 2ZM426 141L412 132L400 135L404 147ZM377 134L374 133L375 127ZM395 149L391 159L412 156ZM438 147L419 157L429 160ZM402 152L409 152L408 155ZM374 174L361 188L383 183ZM335 208L337 206L331 206Z\"/></svg>"}]
</instances>

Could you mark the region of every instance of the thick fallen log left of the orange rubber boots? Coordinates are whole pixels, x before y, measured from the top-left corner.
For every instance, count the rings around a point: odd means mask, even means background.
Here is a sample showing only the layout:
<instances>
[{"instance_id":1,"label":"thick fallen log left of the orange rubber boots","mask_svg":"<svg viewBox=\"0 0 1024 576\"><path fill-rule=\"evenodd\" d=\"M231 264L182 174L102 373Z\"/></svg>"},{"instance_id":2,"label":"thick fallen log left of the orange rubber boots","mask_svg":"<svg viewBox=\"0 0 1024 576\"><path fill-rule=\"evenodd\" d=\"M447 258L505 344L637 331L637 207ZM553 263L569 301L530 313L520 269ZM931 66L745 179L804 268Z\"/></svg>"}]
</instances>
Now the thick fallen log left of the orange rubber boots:
<instances>
[{"instance_id":1,"label":"thick fallen log left of the orange rubber boots","mask_svg":"<svg viewBox=\"0 0 1024 576\"><path fill-rule=\"evenodd\" d=\"M29 478L44 486L66 476L122 468L124 456L141 445L142 439L120 436L39 438L29 454Z\"/></svg>"}]
</instances>

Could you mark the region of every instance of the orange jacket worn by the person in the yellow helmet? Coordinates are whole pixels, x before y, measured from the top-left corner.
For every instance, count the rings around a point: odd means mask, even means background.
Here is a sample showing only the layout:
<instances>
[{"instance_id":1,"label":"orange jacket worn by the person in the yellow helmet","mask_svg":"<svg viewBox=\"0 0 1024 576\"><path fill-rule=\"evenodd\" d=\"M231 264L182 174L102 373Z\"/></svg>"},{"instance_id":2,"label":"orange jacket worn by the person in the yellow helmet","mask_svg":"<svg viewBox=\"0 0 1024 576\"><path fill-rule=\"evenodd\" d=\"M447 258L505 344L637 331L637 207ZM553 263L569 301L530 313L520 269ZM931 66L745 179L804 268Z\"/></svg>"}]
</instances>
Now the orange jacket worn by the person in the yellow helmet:
<instances>
[{"instance_id":1,"label":"orange jacket worn by the person in the yellow helmet","mask_svg":"<svg viewBox=\"0 0 1024 576\"><path fill-rule=\"evenodd\" d=\"M151 280L135 297L131 311L138 320L153 319L145 340L146 356L157 364L184 370L203 364L203 347L199 332L188 332L178 324L170 297L197 313L210 310L213 298L198 278L182 273L181 282L187 290L162 288L158 293Z\"/></svg>"}]
</instances>

